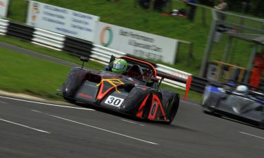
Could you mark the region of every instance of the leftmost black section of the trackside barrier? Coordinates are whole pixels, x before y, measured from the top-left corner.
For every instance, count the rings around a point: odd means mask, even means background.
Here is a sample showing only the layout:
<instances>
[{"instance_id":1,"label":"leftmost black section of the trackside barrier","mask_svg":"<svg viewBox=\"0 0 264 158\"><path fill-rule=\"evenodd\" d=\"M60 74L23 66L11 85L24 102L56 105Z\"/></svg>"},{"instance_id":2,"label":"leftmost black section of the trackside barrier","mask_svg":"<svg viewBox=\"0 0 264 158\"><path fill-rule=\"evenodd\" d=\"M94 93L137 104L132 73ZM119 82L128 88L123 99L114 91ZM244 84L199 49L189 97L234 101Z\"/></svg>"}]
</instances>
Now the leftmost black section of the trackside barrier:
<instances>
[{"instance_id":1,"label":"leftmost black section of the trackside barrier","mask_svg":"<svg viewBox=\"0 0 264 158\"><path fill-rule=\"evenodd\" d=\"M32 41L33 32L34 27L10 21L8 25L8 32L6 32L6 34L10 36L16 36L24 40Z\"/></svg>"}]
</instances>

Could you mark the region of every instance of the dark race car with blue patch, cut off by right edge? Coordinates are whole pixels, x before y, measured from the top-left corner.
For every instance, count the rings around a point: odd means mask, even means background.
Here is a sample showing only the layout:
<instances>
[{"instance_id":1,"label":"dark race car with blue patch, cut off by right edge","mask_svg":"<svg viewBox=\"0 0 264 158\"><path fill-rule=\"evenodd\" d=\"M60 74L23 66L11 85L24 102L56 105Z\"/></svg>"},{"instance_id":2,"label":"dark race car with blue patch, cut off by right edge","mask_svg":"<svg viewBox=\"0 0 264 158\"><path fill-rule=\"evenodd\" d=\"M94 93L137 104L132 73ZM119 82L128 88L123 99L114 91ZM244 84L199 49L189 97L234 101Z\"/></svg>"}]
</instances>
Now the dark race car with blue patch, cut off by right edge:
<instances>
[{"instance_id":1,"label":"dark race car with blue patch, cut off by right edge","mask_svg":"<svg viewBox=\"0 0 264 158\"><path fill-rule=\"evenodd\" d=\"M241 93L235 87L234 83L207 84L203 93L203 111L264 128L263 92L248 90Z\"/></svg>"}]
</instances>

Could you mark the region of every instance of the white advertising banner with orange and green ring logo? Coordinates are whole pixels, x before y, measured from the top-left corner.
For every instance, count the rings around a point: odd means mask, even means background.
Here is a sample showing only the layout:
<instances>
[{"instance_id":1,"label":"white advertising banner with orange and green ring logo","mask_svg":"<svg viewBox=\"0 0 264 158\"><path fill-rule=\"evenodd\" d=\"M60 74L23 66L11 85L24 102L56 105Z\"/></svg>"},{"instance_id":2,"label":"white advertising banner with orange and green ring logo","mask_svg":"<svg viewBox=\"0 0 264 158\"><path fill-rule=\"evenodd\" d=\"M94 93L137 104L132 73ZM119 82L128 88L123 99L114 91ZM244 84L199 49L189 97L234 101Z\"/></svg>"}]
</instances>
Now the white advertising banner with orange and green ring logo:
<instances>
[{"instance_id":1,"label":"white advertising banner with orange and green ring logo","mask_svg":"<svg viewBox=\"0 0 264 158\"><path fill-rule=\"evenodd\" d=\"M101 22L98 25L94 43L127 54L162 60L171 64L174 64L178 47L176 39Z\"/></svg>"}]
</instances>

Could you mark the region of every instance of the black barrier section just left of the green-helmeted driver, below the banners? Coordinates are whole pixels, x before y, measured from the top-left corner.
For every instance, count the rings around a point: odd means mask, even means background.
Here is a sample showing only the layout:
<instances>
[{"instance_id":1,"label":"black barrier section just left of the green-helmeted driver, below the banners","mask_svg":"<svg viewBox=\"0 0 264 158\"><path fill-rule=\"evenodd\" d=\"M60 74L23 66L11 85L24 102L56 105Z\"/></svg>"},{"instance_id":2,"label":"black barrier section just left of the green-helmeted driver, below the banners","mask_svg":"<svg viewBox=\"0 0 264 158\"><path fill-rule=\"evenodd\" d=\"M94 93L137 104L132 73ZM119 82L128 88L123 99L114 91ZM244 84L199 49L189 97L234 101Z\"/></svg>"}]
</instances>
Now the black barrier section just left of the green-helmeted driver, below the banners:
<instances>
[{"instance_id":1,"label":"black barrier section just left of the green-helmeted driver, below the banners","mask_svg":"<svg viewBox=\"0 0 264 158\"><path fill-rule=\"evenodd\" d=\"M93 45L90 41L84 41L78 38L66 36L63 50L73 54L78 54L79 56L90 56L92 47Z\"/></svg>"}]
</instances>

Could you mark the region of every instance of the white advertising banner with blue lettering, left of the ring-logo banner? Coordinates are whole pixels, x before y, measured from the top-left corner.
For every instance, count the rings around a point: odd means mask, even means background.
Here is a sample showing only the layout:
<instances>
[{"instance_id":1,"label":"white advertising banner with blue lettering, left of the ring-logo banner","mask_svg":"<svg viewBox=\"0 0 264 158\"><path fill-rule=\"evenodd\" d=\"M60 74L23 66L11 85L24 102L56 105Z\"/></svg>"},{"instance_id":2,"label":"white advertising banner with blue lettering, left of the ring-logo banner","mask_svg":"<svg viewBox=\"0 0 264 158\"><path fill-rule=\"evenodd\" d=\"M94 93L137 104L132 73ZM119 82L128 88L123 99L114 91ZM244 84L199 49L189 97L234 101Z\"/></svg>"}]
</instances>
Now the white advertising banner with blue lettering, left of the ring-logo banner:
<instances>
[{"instance_id":1,"label":"white advertising banner with blue lettering, left of the ring-logo banner","mask_svg":"<svg viewBox=\"0 0 264 158\"><path fill-rule=\"evenodd\" d=\"M86 41L94 39L99 16L30 1L27 24Z\"/></svg>"}]
</instances>

